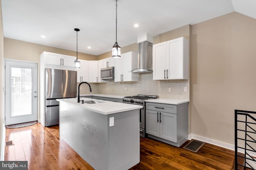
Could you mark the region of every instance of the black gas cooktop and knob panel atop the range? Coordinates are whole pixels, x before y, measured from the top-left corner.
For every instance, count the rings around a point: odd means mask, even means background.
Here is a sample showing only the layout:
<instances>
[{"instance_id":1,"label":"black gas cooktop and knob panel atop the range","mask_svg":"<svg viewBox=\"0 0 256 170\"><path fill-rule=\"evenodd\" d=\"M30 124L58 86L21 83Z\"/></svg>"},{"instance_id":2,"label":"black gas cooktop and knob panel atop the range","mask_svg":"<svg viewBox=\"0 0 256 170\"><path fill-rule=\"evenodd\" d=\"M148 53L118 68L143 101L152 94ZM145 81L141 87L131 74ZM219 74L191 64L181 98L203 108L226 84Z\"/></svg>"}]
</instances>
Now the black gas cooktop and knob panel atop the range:
<instances>
[{"instance_id":1,"label":"black gas cooktop and knob panel atop the range","mask_svg":"<svg viewBox=\"0 0 256 170\"><path fill-rule=\"evenodd\" d=\"M156 99L158 96L141 95L127 96L123 98L123 103L145 105L145 100Z\"/></svg>"}]
</instances>

